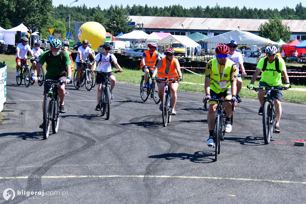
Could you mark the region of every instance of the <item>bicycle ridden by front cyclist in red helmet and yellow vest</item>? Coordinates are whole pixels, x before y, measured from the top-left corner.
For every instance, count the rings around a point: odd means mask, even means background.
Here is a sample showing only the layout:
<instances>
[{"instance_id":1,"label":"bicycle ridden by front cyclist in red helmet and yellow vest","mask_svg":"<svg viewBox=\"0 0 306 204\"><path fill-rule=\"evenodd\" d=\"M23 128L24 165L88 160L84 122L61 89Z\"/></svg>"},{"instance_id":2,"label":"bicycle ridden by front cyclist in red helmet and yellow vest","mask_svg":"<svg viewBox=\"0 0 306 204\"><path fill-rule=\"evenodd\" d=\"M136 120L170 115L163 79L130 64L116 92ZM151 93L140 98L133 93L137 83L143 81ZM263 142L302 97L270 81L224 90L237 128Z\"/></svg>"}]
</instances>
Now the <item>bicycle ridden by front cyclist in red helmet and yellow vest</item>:
<instances>
[{"instance_id":1,"label":"bicycle ridden by front cyclist in red helmet and yellow vest","mask_svg":"<svg viewBox=\"0 0 306 204\"><path fill-rule=\"evenodd\" d=\"M215 126L214 126L214 147L215 147L215 161L217 161L217 156L220 154L221 149L221 141L224 140L225 134L225 120L222 114L223 111L223 102L231 102L231 100L224 100L224 99L210 99L210 101L217 102L217 109L215 112ZM232 110L234 111L234 104L232 103ZM224 127L224 129L223 129Z\"/></svg>"}]
</instances>

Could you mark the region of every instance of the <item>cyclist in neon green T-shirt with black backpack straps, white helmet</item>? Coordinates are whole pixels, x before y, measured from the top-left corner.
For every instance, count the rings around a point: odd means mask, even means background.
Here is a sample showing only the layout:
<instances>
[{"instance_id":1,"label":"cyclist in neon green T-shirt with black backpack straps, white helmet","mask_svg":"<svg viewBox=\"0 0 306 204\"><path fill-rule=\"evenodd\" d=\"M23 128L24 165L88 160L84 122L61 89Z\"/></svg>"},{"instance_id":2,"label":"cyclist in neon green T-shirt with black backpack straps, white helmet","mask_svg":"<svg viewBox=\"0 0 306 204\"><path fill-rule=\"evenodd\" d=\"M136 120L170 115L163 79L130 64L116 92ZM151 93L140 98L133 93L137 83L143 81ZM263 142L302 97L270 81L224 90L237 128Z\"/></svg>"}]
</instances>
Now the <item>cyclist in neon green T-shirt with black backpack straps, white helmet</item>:
<instances>
[{"instance_id":1,"label":"cyclist in neon green T-shirt with black backpack straps, white helmet","mask_svg":"<svg viewBox=\"0 0 306 204\"><path fill-rule=\"evenodd\" d=\"M286 71L285 61L281 57L275 56L277 52L277 48L275 46L267 46L266 53L267 57L261 59L257 66L254 75L252 76L250 85L248 85L248 89L252 90L254 87L254 82L259 75L260 71L261 78L259 81L259 87L279 87L282 86L282 76L284 76L285 80L285 89L289 89L289 77ZM260 108L258 111L258 115L263 115L263 96L266 94L266 91L259 91L257 96L260 103ZM271 96L274 98L274 105L275 105L275 133L280 133L281 130L279 129L279 120L282 115L282 90L275 90L271 91Z\"/></svg>"}]
</instances>

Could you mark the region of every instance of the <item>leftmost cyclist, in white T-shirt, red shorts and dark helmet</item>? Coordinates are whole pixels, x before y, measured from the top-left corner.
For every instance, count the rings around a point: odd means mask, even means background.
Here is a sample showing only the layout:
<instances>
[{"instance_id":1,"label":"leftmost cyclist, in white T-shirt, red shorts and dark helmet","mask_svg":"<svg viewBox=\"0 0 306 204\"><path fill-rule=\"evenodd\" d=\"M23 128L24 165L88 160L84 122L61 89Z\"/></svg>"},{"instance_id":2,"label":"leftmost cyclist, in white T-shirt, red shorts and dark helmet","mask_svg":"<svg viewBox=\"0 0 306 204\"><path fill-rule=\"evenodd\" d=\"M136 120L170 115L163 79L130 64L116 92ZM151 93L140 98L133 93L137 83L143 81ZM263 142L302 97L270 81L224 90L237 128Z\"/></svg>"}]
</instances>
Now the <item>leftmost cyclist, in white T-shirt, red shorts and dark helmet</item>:
<instances>
[{"instance_id":1,"label":"leftmost cyclist, in white T-shirt, red shorts and dark helmet","mask_svg":"<svg viewBox=\"0 0 306 204\"><path fill-rule=\"evenodd\" d=\"M21 66L21 59L25 58L27 56L27 53L29 53L32 57L32 60L34 60L34 55L31 51L31 47L28 45L28 38L22 37L21 43L19 43L16 47L16 76L18 76L18 70ZM29 64L29 61L27 60L27 65ZM28 77L26 77L26 80L28 80Z\"/></svg>"}]
</instances>

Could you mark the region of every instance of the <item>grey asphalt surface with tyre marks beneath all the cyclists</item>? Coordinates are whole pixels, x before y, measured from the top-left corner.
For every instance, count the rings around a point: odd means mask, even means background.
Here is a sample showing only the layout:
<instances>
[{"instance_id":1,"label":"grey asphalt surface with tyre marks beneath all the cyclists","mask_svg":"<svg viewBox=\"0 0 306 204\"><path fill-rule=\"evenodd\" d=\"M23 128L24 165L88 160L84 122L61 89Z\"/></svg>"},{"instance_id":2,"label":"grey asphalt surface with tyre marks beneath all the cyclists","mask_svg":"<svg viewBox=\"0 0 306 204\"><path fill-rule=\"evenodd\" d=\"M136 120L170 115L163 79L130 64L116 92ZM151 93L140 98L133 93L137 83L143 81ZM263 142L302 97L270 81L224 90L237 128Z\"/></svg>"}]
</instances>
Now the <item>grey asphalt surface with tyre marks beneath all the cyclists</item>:
<instances>
[{"instance_id":1,"label":"grey asphalt surface with tyre marks beneath all the cyclists","mask_svg":"<svg viewBox=\"0 0 306 204\"><path fill-rule=\"evenodd\" d=\"M16 193L9 203L305 203L306 148L274 144L305 139L305 105L282 103L281 133L264 145L259 102L243 99L215 162L203 94L178 92L177 115L163 127L139 86L118 83L105 120L96 87L69 85L58 133L43 140L43 88L17 86L7 73L7 102L16 104L4 106L14 112L0 124L1 203L7 188Z\"/></svg>"}]
</instances>

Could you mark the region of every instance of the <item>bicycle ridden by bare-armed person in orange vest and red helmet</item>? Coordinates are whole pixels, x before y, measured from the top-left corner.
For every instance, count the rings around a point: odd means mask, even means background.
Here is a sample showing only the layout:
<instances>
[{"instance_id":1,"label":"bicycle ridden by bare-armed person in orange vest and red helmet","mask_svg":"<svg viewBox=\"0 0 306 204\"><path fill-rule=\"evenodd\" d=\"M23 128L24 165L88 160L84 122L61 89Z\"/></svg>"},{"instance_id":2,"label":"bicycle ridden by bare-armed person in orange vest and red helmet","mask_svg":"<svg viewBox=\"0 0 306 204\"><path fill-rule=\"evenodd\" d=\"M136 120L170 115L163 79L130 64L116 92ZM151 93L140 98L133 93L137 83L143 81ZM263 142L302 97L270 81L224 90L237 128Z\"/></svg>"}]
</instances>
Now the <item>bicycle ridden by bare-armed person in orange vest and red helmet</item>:
<instances>
[{"instance_id":1,"label":"bicycle ridden by bare-armed person in orange vest and red helmet","mask_svg":"<svg viewBox=\"0 0 306 204\"><path fill-rule=\"evenodd\" d=\"M171 100L170 100L170 83L178 83L177 79L172 79L172 82L169 82L168 77L165 78L156 78L158 83L165 83L165 93L162 96L162 123L164 127L171 122Z\"/></svg>"}]
</instances>

